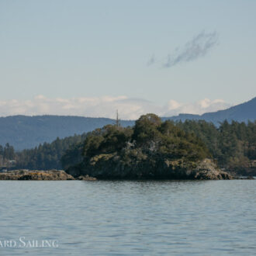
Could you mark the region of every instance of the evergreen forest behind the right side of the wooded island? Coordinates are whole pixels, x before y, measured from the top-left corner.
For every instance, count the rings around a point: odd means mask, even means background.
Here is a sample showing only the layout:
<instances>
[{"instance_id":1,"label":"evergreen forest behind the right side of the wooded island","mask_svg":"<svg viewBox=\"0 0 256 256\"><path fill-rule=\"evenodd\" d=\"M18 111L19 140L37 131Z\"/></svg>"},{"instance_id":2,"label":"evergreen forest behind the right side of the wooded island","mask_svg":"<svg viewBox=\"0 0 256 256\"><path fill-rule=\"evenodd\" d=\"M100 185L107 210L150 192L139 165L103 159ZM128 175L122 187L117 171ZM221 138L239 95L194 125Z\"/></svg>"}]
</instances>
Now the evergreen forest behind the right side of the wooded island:
<instances>
[{"instance_id":1,"label":"evergreen forest behind the right side of the wooded island","mask_svg":"<svg viewBox=\"0 0 256 256\"><path fill-rule=\"evenodd\" d=\"M176 125L195 133L206 144L220 167L231 171L255 167L256 121L247 124L224 121L218 128L202 120L187 120Z\"/></svg>"}]
</instances>

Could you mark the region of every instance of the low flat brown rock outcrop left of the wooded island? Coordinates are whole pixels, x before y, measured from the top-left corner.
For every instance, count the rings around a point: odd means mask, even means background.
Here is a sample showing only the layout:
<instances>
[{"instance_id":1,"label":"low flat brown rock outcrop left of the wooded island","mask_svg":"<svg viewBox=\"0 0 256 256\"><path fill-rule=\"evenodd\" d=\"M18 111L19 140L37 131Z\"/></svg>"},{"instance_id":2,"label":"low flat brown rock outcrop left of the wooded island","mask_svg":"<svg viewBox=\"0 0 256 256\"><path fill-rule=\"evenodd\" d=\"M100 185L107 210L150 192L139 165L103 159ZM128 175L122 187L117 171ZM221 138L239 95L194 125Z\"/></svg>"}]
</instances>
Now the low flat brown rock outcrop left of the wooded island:
<instances>
[{"instance_id":1,"label":"low flat brown rock outcrop left of the wooded island","mask_svg":"<svg viewBox=\"0 0 256 256\"><path fill-rule=\"evenodd\" d=\"M0 173L0 180L33 180L33 181L64 181L74 180L74 177L68 175L65 171L28 171L16 170Z\"/></svg>"}]
</instances>

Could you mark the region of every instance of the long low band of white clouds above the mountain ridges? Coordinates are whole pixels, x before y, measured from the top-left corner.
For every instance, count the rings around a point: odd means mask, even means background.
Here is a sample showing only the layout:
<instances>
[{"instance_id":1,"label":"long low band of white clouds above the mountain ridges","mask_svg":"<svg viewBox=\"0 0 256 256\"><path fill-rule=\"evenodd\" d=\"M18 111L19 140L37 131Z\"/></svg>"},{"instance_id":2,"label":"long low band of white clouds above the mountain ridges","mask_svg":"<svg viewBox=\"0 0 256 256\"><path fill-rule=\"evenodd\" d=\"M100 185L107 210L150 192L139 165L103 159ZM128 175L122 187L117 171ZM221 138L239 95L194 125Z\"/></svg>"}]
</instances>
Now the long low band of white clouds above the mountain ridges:
<instances>
[{"instance_id":1,"label":"long low band of white clouds above the mountain ridges","mask_svg":"<svg viewBox=\"0 0 256 256\"><path fill-rule=\"evenodd\" d=\"M179 113L202 114L227 107L230 107L230 104L222 99L202 99L192 103L171 99L164 106L158 106L144 99L133 99L123 95L71 99L49 99L43 95L37 95L29 100L0 100L0 116L47 114L115 118L116 109L118 109L121 119L137 119L148 112L154 112L159 116L175 116Z\"/></svg>"}]
</instances>

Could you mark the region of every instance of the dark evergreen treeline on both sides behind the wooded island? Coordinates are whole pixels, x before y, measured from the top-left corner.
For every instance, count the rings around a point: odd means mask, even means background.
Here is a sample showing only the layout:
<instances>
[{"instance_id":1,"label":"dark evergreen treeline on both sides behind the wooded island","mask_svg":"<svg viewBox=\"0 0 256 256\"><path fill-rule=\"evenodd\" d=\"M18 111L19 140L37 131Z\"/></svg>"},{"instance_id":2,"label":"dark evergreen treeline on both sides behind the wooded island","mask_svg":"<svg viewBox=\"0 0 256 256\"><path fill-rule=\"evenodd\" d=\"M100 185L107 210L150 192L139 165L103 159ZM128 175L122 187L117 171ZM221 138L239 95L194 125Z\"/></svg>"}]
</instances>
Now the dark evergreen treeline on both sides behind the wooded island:
<instances>
[{"instance_id":1,"label":"dark evergreen treeline on both sides behind the wooded island","mask_svg":"<svg viewBox=\"0 0 256 256\"><path fill-rule=\"evenodd\" d=\"M256 122L225 121L218 127L203 120L171 123L185 133L194 133L199 137L220 167L234 171L241 168L255 168ZM16 164L12 168L38 170L67 168L81 161L84 141L89 134L91 133L64 139L57 138L50 144L40 144L33 149L16 153L9 144L5 147L0 146L0 164L2 167L10 167L9 162L12 161L13 165L15 161Z\"/></svg>"}]
</instances>

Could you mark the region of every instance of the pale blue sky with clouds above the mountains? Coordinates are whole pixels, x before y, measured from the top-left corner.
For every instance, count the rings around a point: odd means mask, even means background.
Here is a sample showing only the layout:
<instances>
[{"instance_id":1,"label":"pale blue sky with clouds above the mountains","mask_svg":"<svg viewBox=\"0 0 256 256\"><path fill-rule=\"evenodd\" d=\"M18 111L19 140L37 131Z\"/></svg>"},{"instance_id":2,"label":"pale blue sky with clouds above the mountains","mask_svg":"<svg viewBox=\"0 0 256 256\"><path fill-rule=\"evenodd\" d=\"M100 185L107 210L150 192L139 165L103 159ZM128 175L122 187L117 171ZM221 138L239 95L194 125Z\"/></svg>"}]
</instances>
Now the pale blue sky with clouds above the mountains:
<instances>
[{"instance_id":1,"label":"pale blue sky with clouds above the mountains","mask_svg":"<svg viewBox=\"0 0 256 256\"><path fill-rule=\"evenodd\" d=\"M0 0L0 116L134 119L256 95L254 0Z\"/></svg>"}]
</instances>

